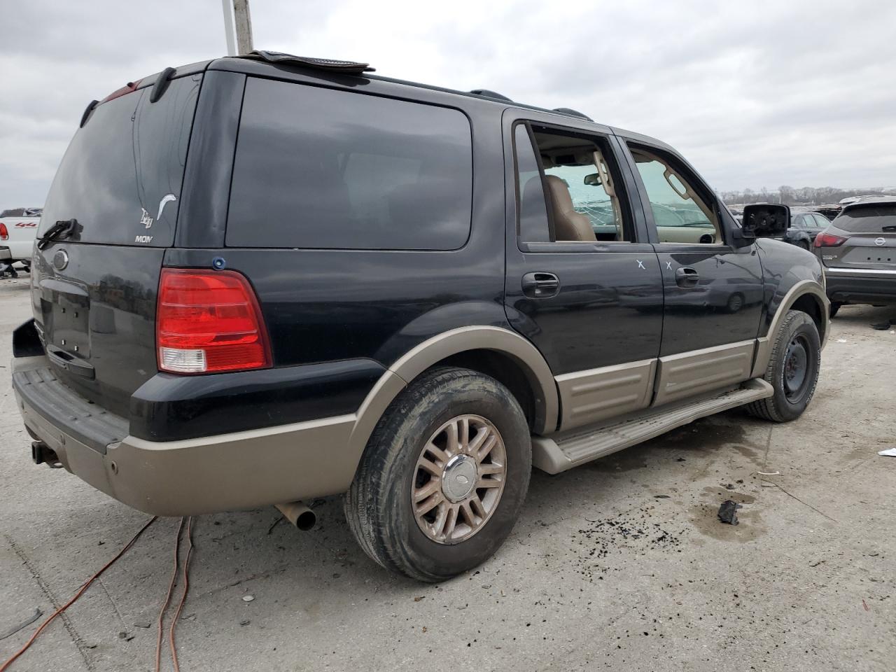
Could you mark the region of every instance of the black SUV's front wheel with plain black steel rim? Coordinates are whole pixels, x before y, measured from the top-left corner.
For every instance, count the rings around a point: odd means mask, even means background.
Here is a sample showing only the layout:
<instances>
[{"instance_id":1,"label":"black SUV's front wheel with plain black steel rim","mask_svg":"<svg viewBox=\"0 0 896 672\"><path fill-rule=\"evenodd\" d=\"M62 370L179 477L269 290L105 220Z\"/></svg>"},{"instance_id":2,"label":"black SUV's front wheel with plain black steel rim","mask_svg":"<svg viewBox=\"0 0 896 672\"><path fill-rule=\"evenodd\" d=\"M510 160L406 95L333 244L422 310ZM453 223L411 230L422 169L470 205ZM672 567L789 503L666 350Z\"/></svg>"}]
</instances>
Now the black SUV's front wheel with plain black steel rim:
<instances>
[{"instance_id":1,"label":"black SUV's front wheel with plain black steel rim","mask_svg":"<svg viewBox=\"0 0 896 672\"><path fill-rule=\"evenodd\" d=\"M821 339L813 319L798 310L788 311L772 341L769 366L762 376L771 383L774 394L747 404L747 412L773 422L799 418L815 393L821 355Z\"/></svg>"}]
</instances>

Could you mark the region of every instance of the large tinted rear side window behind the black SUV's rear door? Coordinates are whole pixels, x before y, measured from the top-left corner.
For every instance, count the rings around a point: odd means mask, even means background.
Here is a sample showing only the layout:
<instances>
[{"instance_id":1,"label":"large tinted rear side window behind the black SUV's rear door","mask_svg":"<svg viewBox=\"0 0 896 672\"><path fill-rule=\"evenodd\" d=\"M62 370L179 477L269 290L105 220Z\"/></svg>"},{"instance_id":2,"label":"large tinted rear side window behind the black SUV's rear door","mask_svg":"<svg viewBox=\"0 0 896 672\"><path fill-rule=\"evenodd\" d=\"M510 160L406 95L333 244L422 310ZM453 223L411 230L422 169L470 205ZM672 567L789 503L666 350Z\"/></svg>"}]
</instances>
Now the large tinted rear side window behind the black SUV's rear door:
<instances>
[{"instance_id":1,"label":"large tinted rear side window behind the black SUV's rear door","mask_svg":"<svg viewBox=\"0 0 896 672\"><path fill-rule=\"evenodd\" d=\"M228 246L457 249L471 194L470 122L455 109L246 82Z\"/></svg>"}]
</instances>

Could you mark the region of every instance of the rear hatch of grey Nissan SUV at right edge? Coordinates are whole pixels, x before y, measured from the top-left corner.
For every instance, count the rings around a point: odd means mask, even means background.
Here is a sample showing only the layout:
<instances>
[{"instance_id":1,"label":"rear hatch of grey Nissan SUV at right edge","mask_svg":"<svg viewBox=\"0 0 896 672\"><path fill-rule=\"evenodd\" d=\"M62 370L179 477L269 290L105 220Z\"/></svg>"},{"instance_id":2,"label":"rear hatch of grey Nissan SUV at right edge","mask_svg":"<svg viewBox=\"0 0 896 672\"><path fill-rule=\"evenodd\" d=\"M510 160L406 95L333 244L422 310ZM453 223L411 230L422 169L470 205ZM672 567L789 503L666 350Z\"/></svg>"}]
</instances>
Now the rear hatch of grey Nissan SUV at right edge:
<instances>
[{"instance_id":1,"label":"rear hatch of grey Nissan SUV at right edge","mask_svg":"<svg viewBox=\"0 0 896 672\"><path fill-rule=\"evenodd\" d=\"M833 220L828 233L845 240L824 249L825 266L896 269L896 201L851 205Z\"/></svg>"}]
</instances>

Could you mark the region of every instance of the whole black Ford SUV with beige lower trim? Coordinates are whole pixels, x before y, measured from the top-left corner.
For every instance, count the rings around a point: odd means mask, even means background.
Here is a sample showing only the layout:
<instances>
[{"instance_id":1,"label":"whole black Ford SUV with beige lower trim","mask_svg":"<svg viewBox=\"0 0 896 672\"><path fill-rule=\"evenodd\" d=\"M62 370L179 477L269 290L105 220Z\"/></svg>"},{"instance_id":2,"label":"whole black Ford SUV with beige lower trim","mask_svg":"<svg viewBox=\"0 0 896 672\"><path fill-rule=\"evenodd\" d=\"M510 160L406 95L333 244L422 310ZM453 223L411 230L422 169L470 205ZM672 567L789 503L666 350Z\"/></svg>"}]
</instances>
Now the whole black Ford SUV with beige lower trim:
<instances>
[{"instance_id":1,"label":"whole black Ford SUV with beige lower trim","mask_svg":"<svg viewBox=\"0 0 896 672\"><path fill-rule=\"evenodd\" d=\"M556 474L747 405L797 418L813 254L668 145L494 92L259 53L91 103L13 385L47 461L159 515L345 494L384 567L481 563ZM291 503L291 504L290 504Z\"/></svg>"}]
</instances>

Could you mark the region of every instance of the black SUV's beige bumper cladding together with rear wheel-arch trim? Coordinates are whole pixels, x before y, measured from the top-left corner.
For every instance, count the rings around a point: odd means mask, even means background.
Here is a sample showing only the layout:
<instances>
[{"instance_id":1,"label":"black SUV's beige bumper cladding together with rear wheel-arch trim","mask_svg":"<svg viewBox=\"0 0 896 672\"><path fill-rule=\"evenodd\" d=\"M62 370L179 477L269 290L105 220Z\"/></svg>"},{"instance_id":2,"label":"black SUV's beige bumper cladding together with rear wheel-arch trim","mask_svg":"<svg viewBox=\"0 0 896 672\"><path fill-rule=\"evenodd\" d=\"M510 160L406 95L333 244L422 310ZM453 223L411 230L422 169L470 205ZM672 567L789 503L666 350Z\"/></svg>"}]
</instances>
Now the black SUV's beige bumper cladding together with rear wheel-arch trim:
<instances>
[{"instance_id":1,"label":"black SUV's beige bumper cladding together with rear wheel-arch trim","mask_svg":"<svg viewBox=\"0 0 896 672\"><path fill-rule=\"evenodd\" d=\"M535 392L536 431L556 427L559 404L547 362L528 340L491 326L445 332L411 349L380 377L356 413L183 441L128 435L108 445L105 455L18 401L26 426L65 469L117 500L155 515L234 511L345 492L395 397L430 366L473 349L517 361ZM13 359L13 372L27 366L46 367L47 358Z\"/></svg>"}]
</instances>

